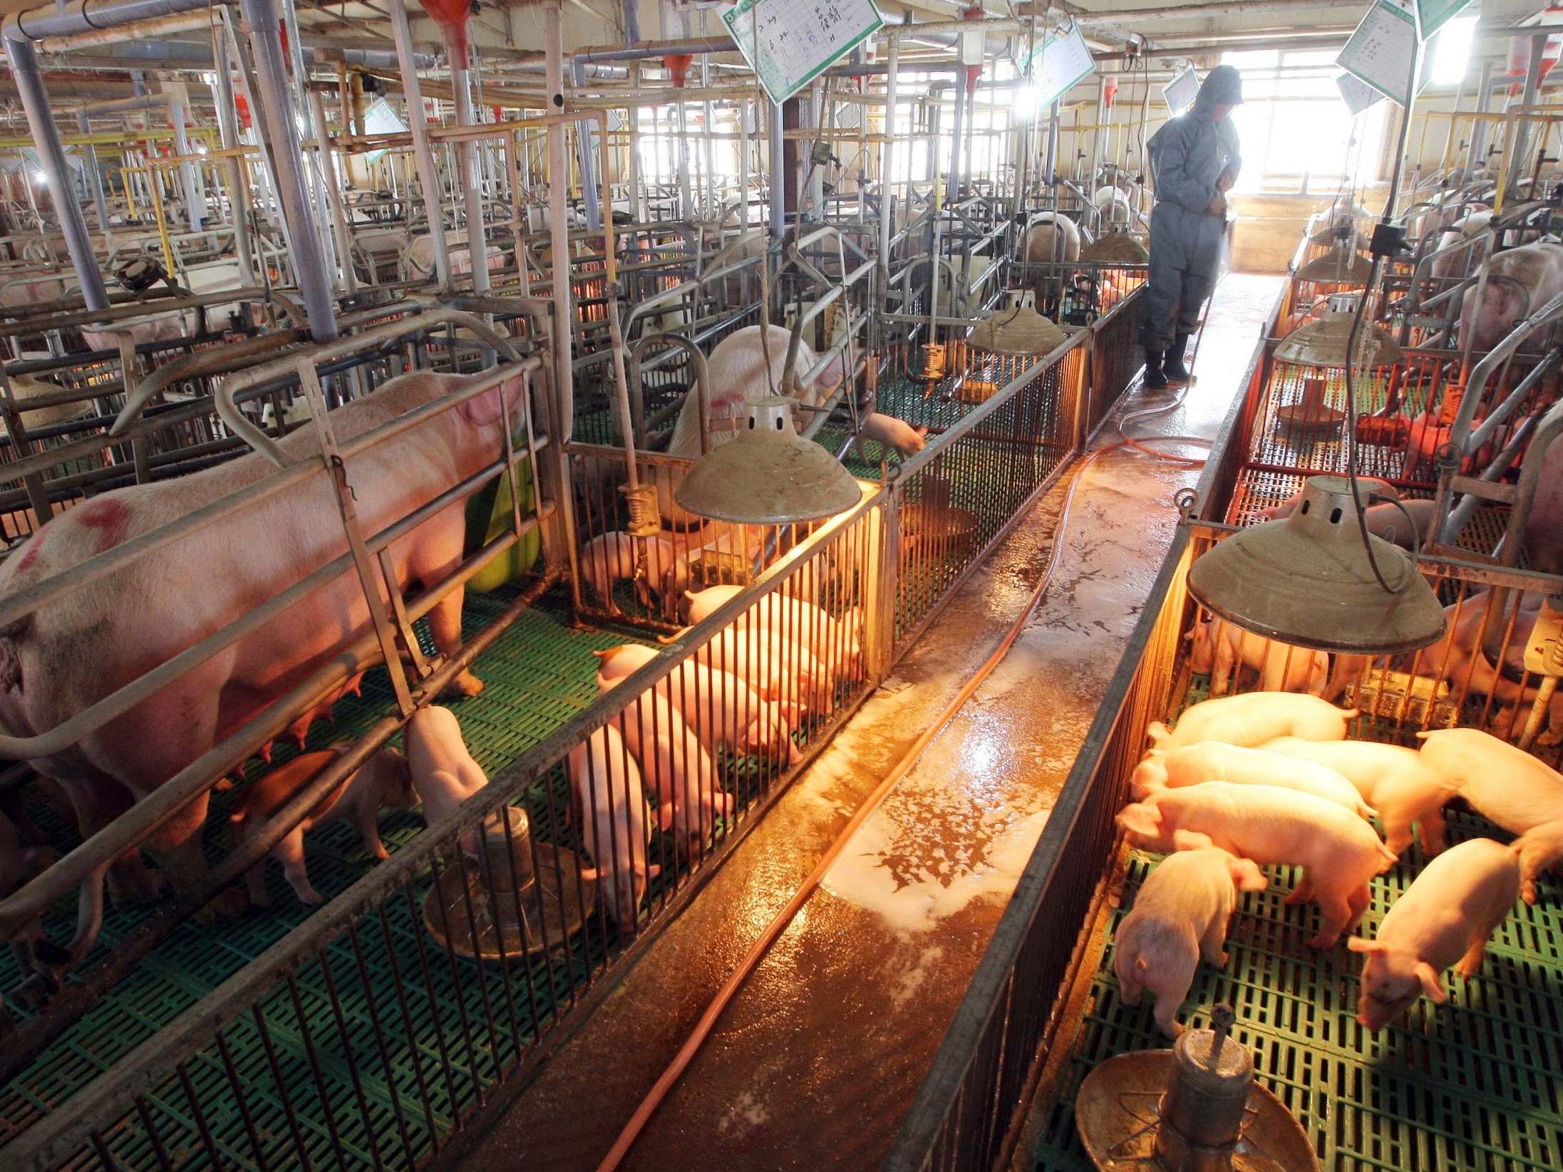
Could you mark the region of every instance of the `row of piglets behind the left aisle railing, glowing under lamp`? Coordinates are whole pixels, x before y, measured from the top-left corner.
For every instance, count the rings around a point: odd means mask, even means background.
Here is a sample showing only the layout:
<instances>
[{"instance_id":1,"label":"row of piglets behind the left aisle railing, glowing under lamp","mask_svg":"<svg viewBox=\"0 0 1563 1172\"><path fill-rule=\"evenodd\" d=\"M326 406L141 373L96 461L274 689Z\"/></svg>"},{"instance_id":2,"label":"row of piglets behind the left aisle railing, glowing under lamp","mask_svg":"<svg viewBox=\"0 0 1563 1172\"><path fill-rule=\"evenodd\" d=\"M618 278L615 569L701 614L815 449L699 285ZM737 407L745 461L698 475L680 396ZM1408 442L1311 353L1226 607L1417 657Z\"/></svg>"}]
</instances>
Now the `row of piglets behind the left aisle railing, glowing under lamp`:
<instances>
[{"instance_id":1,"label":"row of piglets behind the left aisle railing, glowing under lamp","mask_svg":"<svg viewBox=\"0 0 1563 1172\"><path fill-rule=\"evenodd\" d=\"M699 624L742 591L688 591ZM658 649L624 644L599 658L597 691L608 692L656 659ZM597 864L603 903L621 930L635 928L650 863L650 833L672 833L699 858L716 820L733 814L717 778L721 750L792 764L799 720L828 711L842 672L861 670L861 619L835 617L780 591L750 606L669 675L628 702L569 756L570 786L585 811L583 836ZM656 799L655 814L647 791Z\"/></svg>"}]
</instances>

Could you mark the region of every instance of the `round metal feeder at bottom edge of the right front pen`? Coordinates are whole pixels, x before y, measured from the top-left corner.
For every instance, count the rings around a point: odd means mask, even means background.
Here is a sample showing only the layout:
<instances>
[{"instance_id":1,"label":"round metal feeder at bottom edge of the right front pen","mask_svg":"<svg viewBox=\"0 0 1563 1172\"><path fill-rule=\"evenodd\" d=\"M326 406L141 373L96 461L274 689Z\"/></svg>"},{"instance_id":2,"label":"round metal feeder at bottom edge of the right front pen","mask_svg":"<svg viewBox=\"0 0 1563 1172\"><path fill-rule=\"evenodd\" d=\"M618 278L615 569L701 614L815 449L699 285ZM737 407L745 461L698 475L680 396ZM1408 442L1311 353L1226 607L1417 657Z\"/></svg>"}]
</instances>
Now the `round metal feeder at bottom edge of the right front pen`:
<instances>
[{"instance_id":1,"label":"round metal feeder at bottom edge of the right front pen","mask_svg":"<svg viewBox=\"0 0 1563 1172\"><path fill-rule=\"evenodd\" d=\"M1171 1050L1108 1058L1085 1077L1075 1127L1105 1172L1318 1172L1307 1131L1254 1081L1254 1056L1230 1036L1185 1030Z\"/></svg>"}]
</instances>

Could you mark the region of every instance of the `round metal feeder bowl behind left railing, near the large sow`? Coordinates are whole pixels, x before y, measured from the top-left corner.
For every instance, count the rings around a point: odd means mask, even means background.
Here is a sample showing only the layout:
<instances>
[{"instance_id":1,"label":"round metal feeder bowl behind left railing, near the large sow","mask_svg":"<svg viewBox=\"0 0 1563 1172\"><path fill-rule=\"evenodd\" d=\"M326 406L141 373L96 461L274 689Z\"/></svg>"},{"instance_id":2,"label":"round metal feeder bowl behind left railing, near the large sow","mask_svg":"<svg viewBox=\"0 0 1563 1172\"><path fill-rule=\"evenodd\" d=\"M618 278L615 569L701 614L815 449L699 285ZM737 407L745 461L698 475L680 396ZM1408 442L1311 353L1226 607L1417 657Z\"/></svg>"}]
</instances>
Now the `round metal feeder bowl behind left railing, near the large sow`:
<instances>
[{"instance_id":1,"label":"round metal feeder bowl behind left railing, near the large sow","mask_svg":"<svg viewBox=\"0 0 1563 1172\"><path fill-rule=\"evenodd\" d=\"M506 836L503 814L495 811L483 824L481 850L464 852L464 864L445 866L424 897L428 934L466 959L499 961L556 949L597 906L597 880L581 877L578 855L549 842L533 845L520 806L510 806L513 833Z\"/></svg>"}]
</instances>

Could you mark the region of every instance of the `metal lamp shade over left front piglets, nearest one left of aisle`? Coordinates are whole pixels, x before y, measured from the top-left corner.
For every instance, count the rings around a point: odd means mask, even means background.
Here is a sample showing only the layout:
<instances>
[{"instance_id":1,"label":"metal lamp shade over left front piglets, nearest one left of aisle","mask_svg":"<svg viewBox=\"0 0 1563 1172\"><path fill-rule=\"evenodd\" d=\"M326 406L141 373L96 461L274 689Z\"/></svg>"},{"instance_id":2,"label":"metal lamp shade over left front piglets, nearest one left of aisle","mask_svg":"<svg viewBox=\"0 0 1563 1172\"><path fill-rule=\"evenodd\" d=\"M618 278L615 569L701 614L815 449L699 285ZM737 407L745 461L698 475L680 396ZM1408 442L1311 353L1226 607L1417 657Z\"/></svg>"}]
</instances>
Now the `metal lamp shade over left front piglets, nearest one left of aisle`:
<instances>
[{"instance_id":1,"label":"metal lamp shade over left front piglets, nearest one left of aisle","mask_svg":"<svg viewBox=\"0 0 1563 1172\"><path fill-rule=\"evenodd\" d=\"M711 448L674 491L680 508L746 525L789 525L842 513L863 489L836 458L792 430L792 400L749 405L749 420L727 444Z\"/></svg>"}]
</instances>

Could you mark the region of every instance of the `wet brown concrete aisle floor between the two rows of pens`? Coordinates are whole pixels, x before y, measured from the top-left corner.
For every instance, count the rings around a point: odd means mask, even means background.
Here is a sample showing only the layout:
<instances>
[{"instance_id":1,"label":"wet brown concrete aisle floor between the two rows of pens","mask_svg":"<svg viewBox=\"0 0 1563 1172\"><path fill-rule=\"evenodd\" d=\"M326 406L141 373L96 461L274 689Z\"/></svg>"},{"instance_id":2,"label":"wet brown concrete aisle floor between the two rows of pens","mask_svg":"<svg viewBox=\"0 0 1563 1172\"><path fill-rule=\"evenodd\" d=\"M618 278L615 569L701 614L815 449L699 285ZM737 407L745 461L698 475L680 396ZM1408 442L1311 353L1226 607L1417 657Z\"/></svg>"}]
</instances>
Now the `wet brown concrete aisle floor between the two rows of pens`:
<instances>
[{"instance_id":1,"label":"wet brown concrete aisle floor between the two rows of pens","mask_svg":"<svg viewBox=\"0 0 1563 1172\"><path fill-rule=\"evenodd\" d=\"M1138 434L1214 434L1279 281L1219 286L1185 405ZM1099 444L1114 439L1108 427ZM1132 450L1086 470L1057 578L1010 656L863 824L625 1169L880 1164L1144 605L1175 525L1172 495L1196 477ZM1014 620L1046 566L1064 484L455 1167L597 1166L752 941Z\"/></svg>"}]
</instances>

